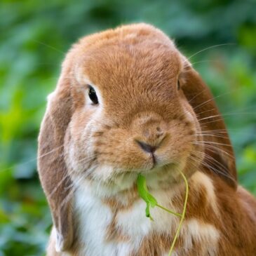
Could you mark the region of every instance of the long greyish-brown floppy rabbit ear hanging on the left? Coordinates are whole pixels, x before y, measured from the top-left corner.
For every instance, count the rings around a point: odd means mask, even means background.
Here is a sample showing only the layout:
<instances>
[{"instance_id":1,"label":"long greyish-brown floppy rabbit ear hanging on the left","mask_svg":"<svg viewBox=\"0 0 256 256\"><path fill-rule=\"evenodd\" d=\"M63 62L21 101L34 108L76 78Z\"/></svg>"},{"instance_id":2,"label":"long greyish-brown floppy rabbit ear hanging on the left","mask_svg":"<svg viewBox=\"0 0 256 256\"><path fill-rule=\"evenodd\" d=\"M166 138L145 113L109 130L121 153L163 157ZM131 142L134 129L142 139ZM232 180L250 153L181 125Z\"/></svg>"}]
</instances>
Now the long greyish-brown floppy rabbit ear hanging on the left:
<instances>
[{"instance_id":1,"label":"long greyish-brown floppy rabbit ear hanging on the left","mask_svg":"<svg viewBox=\"0 0 256 256\"><path fill-rule=\"evenodd\" d=\"M67 250L73 241L70 179L64 160L64 139L71 119L72 101L69 79L60 77L39 134L39 177L55 226L55 249Z\"/></svg>"}]
</instances>

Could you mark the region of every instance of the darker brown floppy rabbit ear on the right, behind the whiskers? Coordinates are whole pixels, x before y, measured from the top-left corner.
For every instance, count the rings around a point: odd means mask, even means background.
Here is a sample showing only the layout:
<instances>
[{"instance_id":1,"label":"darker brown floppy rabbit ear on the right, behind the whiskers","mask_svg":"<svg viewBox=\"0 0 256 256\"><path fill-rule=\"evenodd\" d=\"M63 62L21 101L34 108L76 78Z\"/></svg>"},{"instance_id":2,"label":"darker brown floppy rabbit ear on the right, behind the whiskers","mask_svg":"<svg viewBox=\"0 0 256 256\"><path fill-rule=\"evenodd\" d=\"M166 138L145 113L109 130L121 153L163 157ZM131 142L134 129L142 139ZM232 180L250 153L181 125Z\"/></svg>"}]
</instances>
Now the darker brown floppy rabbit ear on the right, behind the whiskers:
<instances>
[{"instance_id":1,"label":"darker brown floppy rabbit ear on the right, behind the whiskers","mask_svg":"<svg viewBox=\"0 0 256 256\"><path fill-rule=\"evenodd\" d=\"M203 166L236 188L234 151L213 95L190 64L186 65L183 76L182 90L196 113L203 133L206 154Z\"/></svg>"}]
</instances>

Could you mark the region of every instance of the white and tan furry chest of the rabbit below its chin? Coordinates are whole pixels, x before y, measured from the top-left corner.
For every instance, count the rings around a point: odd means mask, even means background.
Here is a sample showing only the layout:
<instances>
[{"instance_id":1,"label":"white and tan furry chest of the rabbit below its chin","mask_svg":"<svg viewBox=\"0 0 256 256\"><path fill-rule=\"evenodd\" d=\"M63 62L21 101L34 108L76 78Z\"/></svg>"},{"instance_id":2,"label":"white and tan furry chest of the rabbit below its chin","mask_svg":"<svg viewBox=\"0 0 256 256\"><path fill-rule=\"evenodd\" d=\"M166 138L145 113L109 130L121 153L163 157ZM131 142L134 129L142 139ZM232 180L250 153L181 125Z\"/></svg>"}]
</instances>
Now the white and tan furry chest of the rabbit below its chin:
<instances>
[{"instance_id":1,"label":"white and tan furry chest of the rabbit below its chin","mask_svg":"<svg viewBox=\"0 0 256 256\"><path fill-rule=\"evenodd\" d=\"M179 217L160 208L153 208L151 215L154 221L151 221L145 217L145 203L140 198L127 207L115 207L107 203L107 199L98 196L99 191L96 189L101 188L80 186L75 192L74 213L79 256L168 255L180 222ZM154 196L158 198L159 204L179 211L170 203L172 192L154 191ZM119 199L122 201L122 198ZM123 203L126 205L126 198L123 198ZM219 233L213 225L190 219L184 222L180 236L183 241L182 250L176 249L172 255L193 251L194 241L208 244L207 252L203 252L208 253L206 255L216 255Z\"/></svg>"}]
</instances>

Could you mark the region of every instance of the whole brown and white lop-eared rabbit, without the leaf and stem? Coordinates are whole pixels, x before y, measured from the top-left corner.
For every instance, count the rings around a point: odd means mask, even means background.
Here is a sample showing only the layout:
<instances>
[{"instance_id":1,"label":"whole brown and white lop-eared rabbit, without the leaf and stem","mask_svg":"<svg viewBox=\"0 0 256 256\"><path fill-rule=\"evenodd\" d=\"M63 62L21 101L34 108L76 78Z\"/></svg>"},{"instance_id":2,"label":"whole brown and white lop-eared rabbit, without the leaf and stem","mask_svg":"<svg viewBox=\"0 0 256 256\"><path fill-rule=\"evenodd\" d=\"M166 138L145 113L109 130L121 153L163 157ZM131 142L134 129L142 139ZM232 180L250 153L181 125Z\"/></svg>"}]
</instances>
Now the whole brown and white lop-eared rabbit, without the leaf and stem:
<instances>
[{"instance_id":1,"label":"whole brown and white lop-eared rabbit, without the leaf and stem","mask_svg":"<svg viewBox=\"0 0 256 256\"><path fill-rule=\"evenodd\" d=\"M210 90L173 41L135 24L74 44L39 135L53 217L47 255L168 255L178 217L144 215L137 175L159 204L187 213L172 255L256 255L256 201L237 186Z\"/></svg>"}]
</instances>

